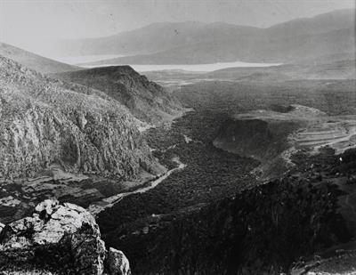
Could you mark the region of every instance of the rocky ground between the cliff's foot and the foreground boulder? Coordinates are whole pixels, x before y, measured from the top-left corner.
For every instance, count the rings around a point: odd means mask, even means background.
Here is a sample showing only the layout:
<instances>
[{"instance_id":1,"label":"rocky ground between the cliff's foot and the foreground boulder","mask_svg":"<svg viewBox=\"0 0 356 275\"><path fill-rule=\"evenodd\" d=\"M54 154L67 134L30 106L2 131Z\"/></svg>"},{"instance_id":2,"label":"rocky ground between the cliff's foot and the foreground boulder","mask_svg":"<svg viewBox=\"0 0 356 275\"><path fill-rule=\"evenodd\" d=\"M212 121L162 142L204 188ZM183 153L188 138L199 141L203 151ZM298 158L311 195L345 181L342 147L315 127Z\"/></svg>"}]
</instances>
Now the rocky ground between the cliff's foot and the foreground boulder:
<instances>
[{"instance_id":1,"label":"rocky ground between the cliff's foot and the foreground boulder","mask_svg":"<svg viewBox=\"0 0 356 275\"><path fill-rule=\"evenodd\" d=\"M162 169L162 173L165 173ZM132 181L118 181L101 176L73 174L52 166L36 178L0 182L0 222L19 220L36 204L47 198L71 202L78 206L101 205L106 198L150 184L158 176L144 170Z\"/></svg>"}]
</instances>

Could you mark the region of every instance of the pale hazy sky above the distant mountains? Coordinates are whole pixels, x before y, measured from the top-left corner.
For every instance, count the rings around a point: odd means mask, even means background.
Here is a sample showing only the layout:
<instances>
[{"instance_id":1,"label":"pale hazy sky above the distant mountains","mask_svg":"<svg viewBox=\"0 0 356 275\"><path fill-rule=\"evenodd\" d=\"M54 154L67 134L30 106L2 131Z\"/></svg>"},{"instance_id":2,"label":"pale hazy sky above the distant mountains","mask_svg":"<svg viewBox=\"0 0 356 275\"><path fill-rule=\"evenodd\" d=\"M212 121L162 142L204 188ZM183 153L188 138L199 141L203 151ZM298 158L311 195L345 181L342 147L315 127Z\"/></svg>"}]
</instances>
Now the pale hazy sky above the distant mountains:
<instances>
[{"instance_id":1,"label":"pale hazy sky above the distant mountains","mask_svg":"<svg viewBox=\"0 0 356 275\"><path fill-rule=\"evenodd\" d=\"M355 0L0 0L0 41L41 53L47 41L107 36L158 21L269 27L344 8L355 8Z\"/></svg>"}]
</instances>

